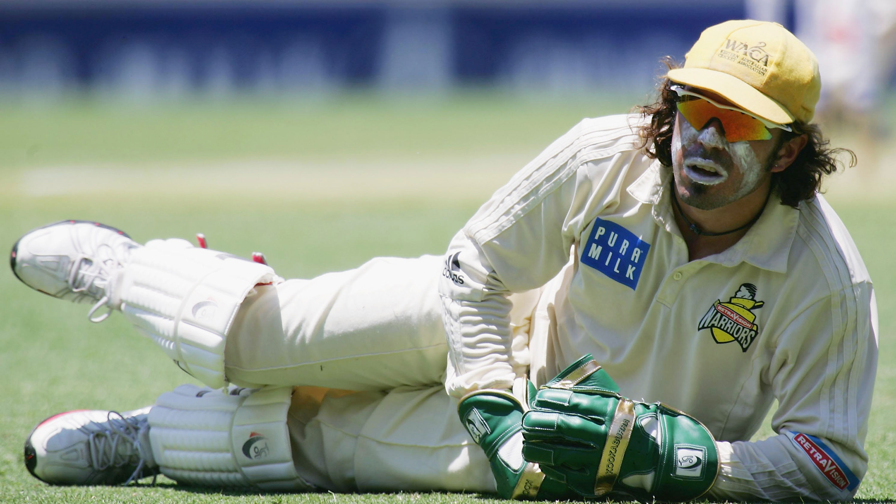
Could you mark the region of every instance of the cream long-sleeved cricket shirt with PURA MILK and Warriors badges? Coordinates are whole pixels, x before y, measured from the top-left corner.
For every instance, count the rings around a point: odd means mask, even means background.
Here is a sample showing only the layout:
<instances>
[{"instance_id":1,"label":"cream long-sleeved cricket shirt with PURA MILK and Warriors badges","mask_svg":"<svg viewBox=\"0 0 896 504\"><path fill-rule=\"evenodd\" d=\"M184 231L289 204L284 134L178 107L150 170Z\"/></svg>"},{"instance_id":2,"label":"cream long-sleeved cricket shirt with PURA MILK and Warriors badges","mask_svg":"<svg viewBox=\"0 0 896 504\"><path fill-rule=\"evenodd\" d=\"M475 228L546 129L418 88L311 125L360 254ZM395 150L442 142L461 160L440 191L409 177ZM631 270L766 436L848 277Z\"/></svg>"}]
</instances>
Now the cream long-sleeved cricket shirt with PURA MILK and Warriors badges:
<instances>
[{"instance_id":1,"label":"cream long-sleeved cricket shirt with PURA MILK and Warriors badges","mask_svg":"<svg viewBox=\"0 0 896 504\"><path fill-rule=\"evenodd\" d=\"M543 382L591 353L623 395L728 441L716 497L848 497L866 471L877 355L849 233L821 196L798 209L772 196L737 244L689 262L668 169L636 149L640 120L582 121L452 240L449 393L509 388L530 361ZM533 289L530 356L507 296ZM775 399L780 435L745 442Z\"/></svg>"}]
</instances>

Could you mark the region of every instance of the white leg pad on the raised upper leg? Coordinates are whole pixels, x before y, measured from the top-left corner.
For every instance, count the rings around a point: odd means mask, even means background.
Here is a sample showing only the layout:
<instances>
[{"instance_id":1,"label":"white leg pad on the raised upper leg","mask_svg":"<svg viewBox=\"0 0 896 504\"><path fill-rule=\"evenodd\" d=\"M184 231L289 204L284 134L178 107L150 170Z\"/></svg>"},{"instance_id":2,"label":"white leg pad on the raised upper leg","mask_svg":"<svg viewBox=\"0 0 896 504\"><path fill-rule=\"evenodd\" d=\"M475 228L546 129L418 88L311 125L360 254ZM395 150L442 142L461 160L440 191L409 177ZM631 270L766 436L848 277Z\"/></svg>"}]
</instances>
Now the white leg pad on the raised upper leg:
<instances>
[{"instance_id":1,"label":"white leg pad on the raised upper leg","mask_svg":"<svg viewBox=\"0 0 896 504\"><path fill-rule=\"evenodd\" d=\"M240 304L256 284L279 280L270 266L184 239L156 239L131 253L110 304L181 369L220 388L227 385L224 343Z\"/></svg>"}]
</instances>

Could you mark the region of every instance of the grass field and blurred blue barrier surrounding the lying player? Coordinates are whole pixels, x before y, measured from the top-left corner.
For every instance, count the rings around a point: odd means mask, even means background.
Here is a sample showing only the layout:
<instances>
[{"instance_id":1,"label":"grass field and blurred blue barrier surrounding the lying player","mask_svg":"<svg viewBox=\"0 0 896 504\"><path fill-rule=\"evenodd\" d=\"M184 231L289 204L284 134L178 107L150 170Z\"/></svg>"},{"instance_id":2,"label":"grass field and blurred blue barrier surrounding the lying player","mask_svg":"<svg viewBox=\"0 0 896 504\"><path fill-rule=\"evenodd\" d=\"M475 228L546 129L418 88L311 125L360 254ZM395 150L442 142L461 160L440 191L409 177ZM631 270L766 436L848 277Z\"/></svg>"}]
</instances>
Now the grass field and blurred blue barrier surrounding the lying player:
<instances>
[{"instance_id":1,"label":"grass field and blurred blue barrier surrounding the lying player","mask_svg":"<svg viewBox=\"0 0 896 504\"><path fill-rule=\"evenodd\" d=\"M285 277L439 254L558 135L645 102L661 56L683 61L701 30L744 17L819 56L819 120L859 157L829 199L889 342L892 0L3 0L0 245L77 218L138 241L202 231L212 248L262 250ZM85 312L0 275L0 500L216 500L47 489L24 471L36 421L150 404L189 379L120 317ZM892 357L882 345L867 500L896 495Z\"/></svg>"}]
</instances>

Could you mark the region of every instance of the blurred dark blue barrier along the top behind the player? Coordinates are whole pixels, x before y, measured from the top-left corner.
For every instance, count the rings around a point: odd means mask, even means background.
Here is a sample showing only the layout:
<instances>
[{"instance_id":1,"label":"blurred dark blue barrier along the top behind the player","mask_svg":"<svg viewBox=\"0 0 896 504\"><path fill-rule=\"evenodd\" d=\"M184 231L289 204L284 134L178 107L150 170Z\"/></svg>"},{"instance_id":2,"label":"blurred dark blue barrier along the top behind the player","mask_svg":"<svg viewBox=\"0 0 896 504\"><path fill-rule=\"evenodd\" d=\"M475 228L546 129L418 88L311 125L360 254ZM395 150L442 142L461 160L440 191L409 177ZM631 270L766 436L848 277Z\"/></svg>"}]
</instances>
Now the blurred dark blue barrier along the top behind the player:
<instances>
[{"instance_id":1,"label":"blurred dark blue barrier along the top behind the player","mask_svg":"<svg viewBox=\"0 0 896 504\"><path fill-rule=\"evenodd\" d=\"M647 90L741 0L0 4L0 93Z\"/></svg>"}]
</instances>

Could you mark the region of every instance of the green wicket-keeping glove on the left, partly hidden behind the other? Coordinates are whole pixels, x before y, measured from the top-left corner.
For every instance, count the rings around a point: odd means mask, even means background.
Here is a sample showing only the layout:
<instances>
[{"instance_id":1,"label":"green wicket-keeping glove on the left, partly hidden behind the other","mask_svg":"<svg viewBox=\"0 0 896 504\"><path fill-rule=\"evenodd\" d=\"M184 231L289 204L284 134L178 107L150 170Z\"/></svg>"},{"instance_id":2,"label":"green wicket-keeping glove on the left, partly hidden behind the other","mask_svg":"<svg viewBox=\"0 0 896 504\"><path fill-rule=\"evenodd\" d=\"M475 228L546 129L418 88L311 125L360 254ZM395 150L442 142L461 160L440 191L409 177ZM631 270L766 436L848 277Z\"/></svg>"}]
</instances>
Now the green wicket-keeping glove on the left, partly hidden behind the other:
<instances>
[{"instance_id":1,"label":"green wicket-keeping glove on the left, partly hidden behind the other","mask_svg":"<svg viewBox=\"0 0 896 504\"><path fill-rule=\"evenodd\" d=\"M535 387L529 384L530 394ZM569 500L578 497L561 482L546 478L522 458L522 413L526 408L509 392L478 390L458 404L463 426L488 457L498 494L504 499Z\"/></svg>"}]
</instances>

